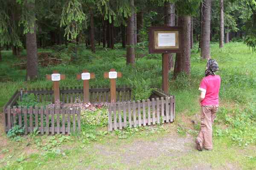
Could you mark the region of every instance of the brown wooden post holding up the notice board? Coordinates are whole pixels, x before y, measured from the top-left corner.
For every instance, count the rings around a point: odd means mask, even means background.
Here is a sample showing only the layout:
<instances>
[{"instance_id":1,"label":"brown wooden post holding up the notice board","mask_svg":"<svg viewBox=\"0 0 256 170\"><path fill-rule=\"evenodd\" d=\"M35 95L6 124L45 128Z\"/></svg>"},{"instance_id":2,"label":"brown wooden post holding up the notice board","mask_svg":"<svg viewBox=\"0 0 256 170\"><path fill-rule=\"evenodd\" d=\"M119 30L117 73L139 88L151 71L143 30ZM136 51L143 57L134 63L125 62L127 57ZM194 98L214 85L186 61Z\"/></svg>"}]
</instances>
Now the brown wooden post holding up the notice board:
<instances>
[{"instance_id":1,"label":"brown wooden post holding up the notice board","mask_svg":"<svg viewBox=\"0 0 256 170\"><path fill-rule=\"evenodd\" d=\"M162 88L163 88L163 91L165 93L168 93L169 92L169 81L168 81L168 54L163 54L163 57L162 57L162 70L163 70L163 85L162 85Z\"/></svg>"}]
</instances>

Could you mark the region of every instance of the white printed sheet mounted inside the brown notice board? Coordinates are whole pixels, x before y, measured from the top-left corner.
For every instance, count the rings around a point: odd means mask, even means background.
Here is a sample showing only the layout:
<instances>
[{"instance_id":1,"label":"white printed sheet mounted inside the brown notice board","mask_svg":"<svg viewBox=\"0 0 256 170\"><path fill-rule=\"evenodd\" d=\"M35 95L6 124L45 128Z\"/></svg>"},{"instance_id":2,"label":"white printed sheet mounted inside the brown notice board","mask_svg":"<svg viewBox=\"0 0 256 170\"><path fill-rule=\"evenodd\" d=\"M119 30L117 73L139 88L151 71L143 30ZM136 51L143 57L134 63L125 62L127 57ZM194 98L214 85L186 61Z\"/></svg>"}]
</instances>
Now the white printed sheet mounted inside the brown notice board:
<instances>
[{"instance_id":1,"label":"white printed sheet mounted inside the brown notice board","mask_svg":"<svg viewBox=\"0 0 256 170\"><path fill-rule=\"evenodd\" d=\"M175 46L175 33L158 33L158 47Z\"/></svg>"}]
</instances>

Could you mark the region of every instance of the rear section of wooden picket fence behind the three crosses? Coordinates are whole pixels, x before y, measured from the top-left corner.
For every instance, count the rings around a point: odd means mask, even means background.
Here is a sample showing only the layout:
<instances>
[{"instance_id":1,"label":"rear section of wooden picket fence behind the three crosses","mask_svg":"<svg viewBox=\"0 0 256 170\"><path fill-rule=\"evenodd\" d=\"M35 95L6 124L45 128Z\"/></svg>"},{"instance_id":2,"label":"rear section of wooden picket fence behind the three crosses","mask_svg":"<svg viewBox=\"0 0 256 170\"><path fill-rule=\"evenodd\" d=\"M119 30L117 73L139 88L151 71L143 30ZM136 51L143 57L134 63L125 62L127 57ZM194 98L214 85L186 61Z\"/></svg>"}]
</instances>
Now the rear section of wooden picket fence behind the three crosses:
<instances>
[{"instance_id":1,"label":"rear section of wooden picket fence behind the three crosses","mask_svg":"<svg viewBox=\"0 0 256 170\"><path fill-rule=\"evenodd\" d=\"M54 103L53 90L50 88L44 89L20 89L20 99L24 94L35 94L38 102L49 101ZM110 88L106 87L91 87L89 89L91 103L110 102ZM116 101L129 101L131 100L131 88L117 87L116 88ZM18 100L20 100L18 99ZM83 88L61 88L60 99L63 103L76 103L83 99Z\"/></svg>"}]
</instances>

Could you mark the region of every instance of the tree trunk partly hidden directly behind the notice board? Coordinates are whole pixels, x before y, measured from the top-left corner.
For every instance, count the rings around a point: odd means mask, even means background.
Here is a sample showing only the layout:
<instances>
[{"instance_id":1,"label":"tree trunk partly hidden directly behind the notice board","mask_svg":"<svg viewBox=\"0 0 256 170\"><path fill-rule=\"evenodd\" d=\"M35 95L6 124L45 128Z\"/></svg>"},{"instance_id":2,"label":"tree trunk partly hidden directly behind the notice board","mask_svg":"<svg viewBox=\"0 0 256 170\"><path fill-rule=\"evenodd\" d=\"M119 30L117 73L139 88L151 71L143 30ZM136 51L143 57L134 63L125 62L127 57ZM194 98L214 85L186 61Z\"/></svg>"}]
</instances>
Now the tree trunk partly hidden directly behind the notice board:
<instances>
[{"instance_id":1,"label":"tree trunk partly hidden directly behind the notice board","mask_svg":"<svg viewBox=\"0 0 256 170\"><path fill-rule=\"evenodd\" d=\"M175 13L175 5L174 3L164 3L164 24L166 26L175 26L175 18L174 18L174 13ZM162 57L163 59L163 57ZM163 65L162 65L163 68ZM173 54L168 55L168 69L169 71L173 68Z\"/></svg>"}]
</instances>

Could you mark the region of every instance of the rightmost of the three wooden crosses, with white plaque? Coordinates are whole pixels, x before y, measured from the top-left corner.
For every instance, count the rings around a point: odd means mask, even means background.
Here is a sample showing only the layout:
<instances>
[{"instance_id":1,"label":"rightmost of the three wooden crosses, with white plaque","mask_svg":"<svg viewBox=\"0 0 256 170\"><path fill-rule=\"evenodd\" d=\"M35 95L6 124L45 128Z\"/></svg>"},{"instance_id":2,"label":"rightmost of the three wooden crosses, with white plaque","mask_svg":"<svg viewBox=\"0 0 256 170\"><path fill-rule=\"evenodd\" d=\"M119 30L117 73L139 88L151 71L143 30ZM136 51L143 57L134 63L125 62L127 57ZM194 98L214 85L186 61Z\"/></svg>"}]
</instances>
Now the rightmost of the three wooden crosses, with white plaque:
<instances>
[{"instance_id":1,"label":"rightmost of the three wooden crosses, with white plaque","mask_svg":"<svg viewBox=\"0 0 256 170\"><path fill-rule=\"evenodd\" d=\"M116 102L116 78L122 77L121 72L116 72L116 69L111 68L110 72L104 73L104 78L110 79L110 102Z\"/></svg>"}]
</instances>

